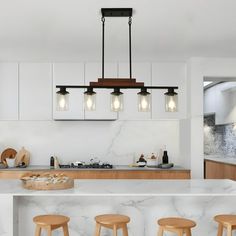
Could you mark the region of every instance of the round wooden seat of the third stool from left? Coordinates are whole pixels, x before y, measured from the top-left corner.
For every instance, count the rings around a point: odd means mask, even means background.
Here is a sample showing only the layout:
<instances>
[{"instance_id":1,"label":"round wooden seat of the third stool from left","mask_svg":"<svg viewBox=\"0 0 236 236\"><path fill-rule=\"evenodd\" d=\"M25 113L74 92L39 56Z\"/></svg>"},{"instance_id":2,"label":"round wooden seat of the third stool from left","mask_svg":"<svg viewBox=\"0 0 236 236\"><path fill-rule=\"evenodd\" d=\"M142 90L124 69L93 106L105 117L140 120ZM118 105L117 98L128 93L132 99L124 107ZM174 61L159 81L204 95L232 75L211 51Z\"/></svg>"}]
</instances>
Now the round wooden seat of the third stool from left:
<instances>
[{"instance_id":1,"label":"round wooden seat of the third stool from left","mask_svg":"<svg viewBox=\"0 0 236 236\"><path fill-rule=\"evenodd\" d=\"M158 224L170 229L193 228L196 226L194 221L179 217L162 218L158 220Z\"/></svg>"}]
</instances>

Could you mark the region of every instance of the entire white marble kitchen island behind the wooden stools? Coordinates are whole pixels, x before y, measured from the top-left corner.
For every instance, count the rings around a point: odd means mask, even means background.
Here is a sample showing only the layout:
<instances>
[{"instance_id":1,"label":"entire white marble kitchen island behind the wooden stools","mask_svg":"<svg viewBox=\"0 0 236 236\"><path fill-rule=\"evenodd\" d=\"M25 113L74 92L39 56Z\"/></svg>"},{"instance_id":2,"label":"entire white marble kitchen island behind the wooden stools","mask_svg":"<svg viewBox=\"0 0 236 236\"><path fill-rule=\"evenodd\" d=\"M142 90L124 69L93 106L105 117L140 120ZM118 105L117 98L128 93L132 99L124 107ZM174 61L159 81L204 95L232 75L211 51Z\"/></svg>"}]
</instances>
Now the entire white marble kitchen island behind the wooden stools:
<instances>
[{"instance_id":1,"label":"entire white marble kitchen island behind the wooden stools","mask_svg":"<svg viewBox=\"0 0 236 236\"><path fill-rule=\"evenodd\" d=\"M94 216L105 213L130 216L129 236L155 236L157 219L166 216L195 220L193 236L215 236L213 216L236 213L236 182L230 180L75 180L73 189L58 191L26 190L19 180L0 180L0 189L3 236L33 235L32 218L54 213L71 218L71 236L92 236Z\"/></svg>"}]
</instances>

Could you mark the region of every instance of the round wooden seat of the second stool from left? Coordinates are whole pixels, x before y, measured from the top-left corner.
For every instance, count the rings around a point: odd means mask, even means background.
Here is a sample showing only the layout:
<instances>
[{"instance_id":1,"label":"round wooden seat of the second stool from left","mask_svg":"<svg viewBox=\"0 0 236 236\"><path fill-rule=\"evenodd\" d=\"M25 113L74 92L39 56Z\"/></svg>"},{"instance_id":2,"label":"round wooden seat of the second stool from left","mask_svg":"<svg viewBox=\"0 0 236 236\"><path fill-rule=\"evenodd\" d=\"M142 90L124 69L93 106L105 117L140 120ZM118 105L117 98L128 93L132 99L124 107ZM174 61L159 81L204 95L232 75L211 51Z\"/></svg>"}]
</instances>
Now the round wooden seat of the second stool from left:
<instances>
[{"instance_id":1,"label":"round wooden seat of the second stool from left","mask_svg":"<svg viewBox=\"0 0 236 236\"><path fill-rule=\"evenodd\" d=\"M95 221L99 224L103 225L119 225L119 224L127 224L130 222L130 218L125 215L99 215L95 217Z\"/></svg>"}]
</instances>

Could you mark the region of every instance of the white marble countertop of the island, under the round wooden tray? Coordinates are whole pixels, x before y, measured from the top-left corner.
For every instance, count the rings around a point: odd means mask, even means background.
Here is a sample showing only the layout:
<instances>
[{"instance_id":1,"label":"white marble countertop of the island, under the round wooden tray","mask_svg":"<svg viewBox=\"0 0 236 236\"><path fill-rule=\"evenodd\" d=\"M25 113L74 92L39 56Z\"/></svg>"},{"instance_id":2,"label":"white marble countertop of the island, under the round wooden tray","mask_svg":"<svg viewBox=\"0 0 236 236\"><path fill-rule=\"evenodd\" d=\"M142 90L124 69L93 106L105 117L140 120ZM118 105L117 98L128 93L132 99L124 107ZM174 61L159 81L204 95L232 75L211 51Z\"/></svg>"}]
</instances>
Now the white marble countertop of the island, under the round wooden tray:
<instances>
[{"instance_id":1,"label":"white marble countertop of the island, under the round wooden tray","mask_svg":"<svg viewBox=\"0 0 236 236\"><path fill-rule=\"evenodd\" d=\"M68 190L33 191L20 180L0 180L0 195L14 196L236 196L232 180L75 180Z\"/></svg>"}]
</instances>

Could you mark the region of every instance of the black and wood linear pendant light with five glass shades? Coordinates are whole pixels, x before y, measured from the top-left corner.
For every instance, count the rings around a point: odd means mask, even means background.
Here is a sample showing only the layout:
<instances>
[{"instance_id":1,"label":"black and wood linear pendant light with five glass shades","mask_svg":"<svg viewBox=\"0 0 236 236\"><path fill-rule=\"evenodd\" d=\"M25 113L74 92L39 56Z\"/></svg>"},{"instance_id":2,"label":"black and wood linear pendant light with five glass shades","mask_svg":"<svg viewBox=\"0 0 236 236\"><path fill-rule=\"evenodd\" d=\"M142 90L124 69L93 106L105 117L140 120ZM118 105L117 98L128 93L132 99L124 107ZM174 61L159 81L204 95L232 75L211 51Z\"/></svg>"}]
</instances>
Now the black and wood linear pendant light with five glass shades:
<instances>
[{"instance_id":1,"label":"black and wood linear pendant light with five glass shades","mask_svg":"<svg viewBox=\"0 0 236 236\"><path fill-rule=\"evenodd\" d=\"M86 89L84 92L84 108L86 111L96 110L96 92L99 89L113 89L111 92L110 109L120 112L124 109L123 92L121 90L137 89L138 92L138 111L149 112L151 110L150 89L167 90L165 93L165 111L178 111L178 94L175 92L177 86L145 86L144 82L137 82L132 77L132 47L131 47L131 25L132 8L102 8L102 78L98 81L91 81L89 85L56 85L60 90L57 92L57 110L68 111L69 92L66 89ZM129 26L129 78L105 78L105 18L106 17L127 17Z\"/></svg>"}]
</instances>

